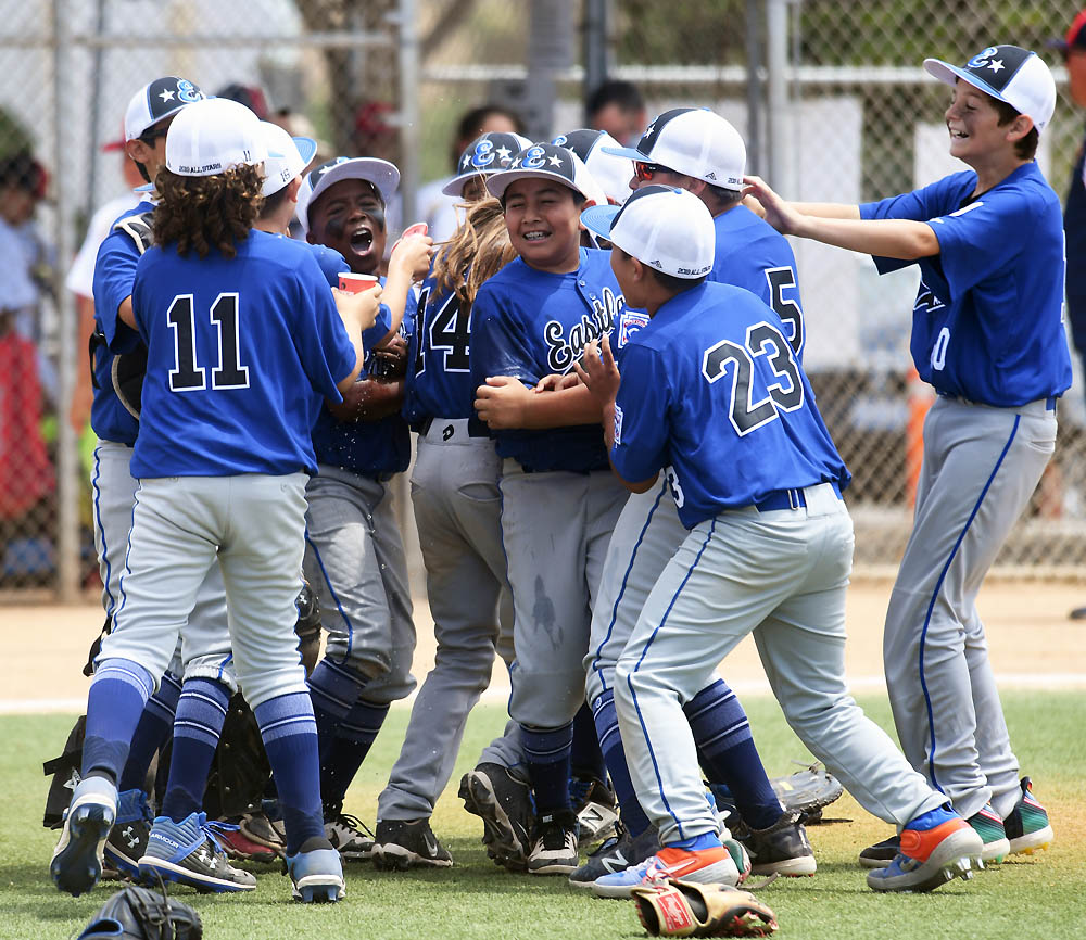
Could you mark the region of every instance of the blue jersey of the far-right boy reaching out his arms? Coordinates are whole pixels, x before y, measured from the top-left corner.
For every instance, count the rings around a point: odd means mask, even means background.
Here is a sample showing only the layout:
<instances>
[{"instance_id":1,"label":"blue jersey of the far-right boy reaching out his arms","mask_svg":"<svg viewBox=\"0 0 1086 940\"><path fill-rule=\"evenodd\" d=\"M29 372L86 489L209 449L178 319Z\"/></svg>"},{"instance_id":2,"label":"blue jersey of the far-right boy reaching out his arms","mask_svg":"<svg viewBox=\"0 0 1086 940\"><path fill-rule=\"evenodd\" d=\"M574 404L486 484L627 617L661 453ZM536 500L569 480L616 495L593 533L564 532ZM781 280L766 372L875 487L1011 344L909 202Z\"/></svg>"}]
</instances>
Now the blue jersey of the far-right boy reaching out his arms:
<instances>
[{"instance_id":1,"label":"blue jersey of the far-right boy reaching out his arms","mask_svg":"<svg viewBox=\"0 0 1086 940\"><path fill-rule=\"evenodd\" d=\"M939 254L875 258L880 272L920 266L912 358L946 395L1001 408L1071 385L1063 331L1063 221L1036 163L972 198L976 174L860 206L860 216L925 221Z\"/></svg>"}]
</instances>

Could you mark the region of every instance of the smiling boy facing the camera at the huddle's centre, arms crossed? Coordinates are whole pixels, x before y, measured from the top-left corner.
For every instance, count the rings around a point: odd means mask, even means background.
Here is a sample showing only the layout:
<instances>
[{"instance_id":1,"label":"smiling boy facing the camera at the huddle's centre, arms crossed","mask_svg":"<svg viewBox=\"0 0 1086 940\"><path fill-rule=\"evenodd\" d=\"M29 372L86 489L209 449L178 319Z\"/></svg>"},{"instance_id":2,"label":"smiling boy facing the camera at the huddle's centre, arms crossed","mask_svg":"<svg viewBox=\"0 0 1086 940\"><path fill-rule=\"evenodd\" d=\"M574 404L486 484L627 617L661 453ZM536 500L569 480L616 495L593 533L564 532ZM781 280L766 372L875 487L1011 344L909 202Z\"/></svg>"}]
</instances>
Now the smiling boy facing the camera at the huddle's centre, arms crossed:
<instances>
[{"instance_id":1,"label":"smiling boy facing the camera at the huddle's centre, arms crossed","mask_svg":"<svg viewBox=\"0 0 1086 940\"><path fill-rule=\"evenodd\" d=\"M591 396L532 390L571 369L589 340L616 329L624 306L607 254L580 247L578 208L596 185L576 154L535 144L487 187L502 200L519 254L476 297L470 367L476 410L497 432L503 458L517 652L509 714L520 725L536 809L527 866L568 874L578 863L568 778L572 720L584 703L581 660L624 496L603 472Z\"/></svg>"}]
</instances>

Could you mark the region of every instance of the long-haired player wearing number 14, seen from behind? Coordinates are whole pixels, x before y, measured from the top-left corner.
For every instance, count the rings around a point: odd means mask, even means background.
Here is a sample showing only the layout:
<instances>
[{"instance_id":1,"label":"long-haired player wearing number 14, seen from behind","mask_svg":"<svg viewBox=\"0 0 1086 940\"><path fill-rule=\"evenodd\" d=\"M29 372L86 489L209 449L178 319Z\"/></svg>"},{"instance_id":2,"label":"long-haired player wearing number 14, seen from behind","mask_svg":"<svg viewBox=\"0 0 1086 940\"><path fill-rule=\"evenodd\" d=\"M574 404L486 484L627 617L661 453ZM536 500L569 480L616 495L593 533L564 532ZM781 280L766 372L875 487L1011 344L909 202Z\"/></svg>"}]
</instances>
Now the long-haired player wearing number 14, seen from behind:
<instances>
[{"instance_id":1,"label":"long-haired player wearing number 14, seen from behind","mask_svg":"<svg viewBox=\"0 0 1086 940\"><path fill-rule=\"evenodd\" d=\"M469 203L467 217L434 259L419 294L403 414L418 431L412 503L438 651L377 803L374 861L389 869L452 864L430 816L452 774L468 712L490 682L495 650L513 662L501 458L471 407L469 352L475 295L516 256L502 207L487 195L485 177L507 168L530 145L519 135L493 132L465 149L460 173L443 191ZM515 739L500 738L491 746L495 750L504 755L496 776L520 755Z\"/></svg>"}]
</instances>

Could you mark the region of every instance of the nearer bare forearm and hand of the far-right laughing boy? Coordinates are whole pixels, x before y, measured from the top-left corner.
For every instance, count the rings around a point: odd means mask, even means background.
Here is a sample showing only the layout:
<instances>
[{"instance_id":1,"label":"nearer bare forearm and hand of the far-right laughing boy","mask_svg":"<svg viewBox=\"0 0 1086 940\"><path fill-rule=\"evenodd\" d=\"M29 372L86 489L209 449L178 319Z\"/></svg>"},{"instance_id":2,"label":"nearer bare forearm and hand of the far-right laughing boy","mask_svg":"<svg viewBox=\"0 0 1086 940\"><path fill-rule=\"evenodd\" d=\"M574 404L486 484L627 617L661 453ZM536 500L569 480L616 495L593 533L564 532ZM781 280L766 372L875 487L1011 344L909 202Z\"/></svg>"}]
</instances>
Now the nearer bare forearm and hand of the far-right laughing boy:
<instances>
[{"instance_id":1,"label":"nearer bare forearm and hand of the far-right laughing boy","mask_svg":"<svg viewBox=\"0 0 1086 940\"><path fill-rule=\"evenodd\" d=\"M835 203L790 203L757 176L744 177L744 193L766 208L766 221L783 234L879 257L915 261L939 253L932 227L913 219L861 219L860 208Z\"/></svg>"}]
</instances>

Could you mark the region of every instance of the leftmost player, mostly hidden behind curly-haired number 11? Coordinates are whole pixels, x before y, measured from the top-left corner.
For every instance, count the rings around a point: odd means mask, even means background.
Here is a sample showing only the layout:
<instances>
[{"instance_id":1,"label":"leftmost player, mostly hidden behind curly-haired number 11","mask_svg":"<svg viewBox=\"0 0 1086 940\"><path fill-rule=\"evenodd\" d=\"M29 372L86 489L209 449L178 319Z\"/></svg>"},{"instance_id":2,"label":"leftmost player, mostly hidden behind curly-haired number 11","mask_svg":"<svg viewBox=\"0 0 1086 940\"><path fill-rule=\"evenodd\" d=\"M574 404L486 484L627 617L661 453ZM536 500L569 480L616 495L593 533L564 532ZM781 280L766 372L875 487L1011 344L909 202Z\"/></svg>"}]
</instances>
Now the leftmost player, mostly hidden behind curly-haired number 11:
<instances>
[{"instance_id":1,"label":"leftmost player, mostly hidden behind curly-haired number 11","mask_svg":"<svg viewBox=\"0 0 1086 940\"><path fill-rule=\"evenodd\" d=\"M172 120L182 107L202 99L199 88L176 76L155 79L132 96L125 114L125 149L141 176L157 174L165 155L165 134ZM119 579L125 567L137 490L129 462L139 430L139 390L146 364L142 341L122 318L131 309L137 263L151 243L150 213L154 204L148 201L153 196L144 198L113 224L94 265L91 424L99 444L94 449L91 487L106 633L119 604ZM209 570L201 585L189 618L188 633L193 639L184 650L178 643L159 689L148 700L136 726L128 759L117 782L121 792L116 825L110 833L104 854L115 867L129 875L137 874L151 828L151 814L143 792L148 767L171 733L175 712L180 715L180 736L176 741L180 768L188 766L184 760L186 746L201 734L188 714L198 697L218 700L237 690L230 665L226 595L217 568ZM194 650L200 651L199 656L193 655ZM184 687L179 678L182 673ZM203 780L199 783L202 786ZM174 789L176 793L177 787ZM224 865L220 871L224 884L233 884L232 869Z\"/></svg>"}]
</instances>

